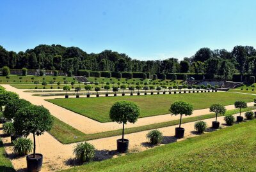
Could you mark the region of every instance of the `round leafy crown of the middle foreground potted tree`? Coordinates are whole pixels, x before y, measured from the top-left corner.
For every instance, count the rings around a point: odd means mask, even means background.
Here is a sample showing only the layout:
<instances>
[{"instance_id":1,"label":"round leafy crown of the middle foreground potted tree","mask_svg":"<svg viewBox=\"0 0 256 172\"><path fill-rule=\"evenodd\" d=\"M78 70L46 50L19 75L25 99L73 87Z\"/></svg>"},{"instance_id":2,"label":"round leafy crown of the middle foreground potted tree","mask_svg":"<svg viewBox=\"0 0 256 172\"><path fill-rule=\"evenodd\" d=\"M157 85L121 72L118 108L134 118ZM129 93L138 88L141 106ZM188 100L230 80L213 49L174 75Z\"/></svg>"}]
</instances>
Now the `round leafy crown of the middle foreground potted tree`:
<instances>
[{"instance_id":1,"label":"round leafy crown of the middle foreground potted tree","mask_svg":"<svg viewBox=\"0 0 256 172\"><path fill-rule=\"evenodd\" d=\"M118 124L135 123L140 115L140 109L132 101L116 101L109 111L109 117Z\"/></svg>"}]
</instances>

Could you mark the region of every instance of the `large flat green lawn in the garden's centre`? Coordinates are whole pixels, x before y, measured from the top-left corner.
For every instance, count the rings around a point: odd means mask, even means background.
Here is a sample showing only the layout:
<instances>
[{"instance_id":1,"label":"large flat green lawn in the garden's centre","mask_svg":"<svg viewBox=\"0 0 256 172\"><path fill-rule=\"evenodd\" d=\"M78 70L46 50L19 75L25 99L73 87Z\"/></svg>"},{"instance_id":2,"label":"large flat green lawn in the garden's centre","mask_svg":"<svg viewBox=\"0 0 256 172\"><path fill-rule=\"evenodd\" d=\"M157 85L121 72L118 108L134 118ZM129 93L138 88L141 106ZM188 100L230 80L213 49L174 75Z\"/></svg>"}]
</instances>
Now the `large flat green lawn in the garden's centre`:
<instances>
[{"instance_id":1,"label":"large flat green lawn in the garden's centre","mask_svg":"<svg viewBox=\"0 0 256 172\"><path fill-rule=\"evenodd\" d=\"M47 101L63 108L74 111L99 122L110 122L109 110L120 100L134 101L141 110L140 117L150 117L169 113L170 104L175 101L186 101L194 106L195 110L209 108L211 104L234 104L237 99L246 102L253 101L255 96L246 94L232 94L228 92L207 92L195 94L166 94L150 96L117 96L117 97L91 97L70 99L48 99ZM157 105L156 105L157 103Z\"/></svg>"}]
</instances>

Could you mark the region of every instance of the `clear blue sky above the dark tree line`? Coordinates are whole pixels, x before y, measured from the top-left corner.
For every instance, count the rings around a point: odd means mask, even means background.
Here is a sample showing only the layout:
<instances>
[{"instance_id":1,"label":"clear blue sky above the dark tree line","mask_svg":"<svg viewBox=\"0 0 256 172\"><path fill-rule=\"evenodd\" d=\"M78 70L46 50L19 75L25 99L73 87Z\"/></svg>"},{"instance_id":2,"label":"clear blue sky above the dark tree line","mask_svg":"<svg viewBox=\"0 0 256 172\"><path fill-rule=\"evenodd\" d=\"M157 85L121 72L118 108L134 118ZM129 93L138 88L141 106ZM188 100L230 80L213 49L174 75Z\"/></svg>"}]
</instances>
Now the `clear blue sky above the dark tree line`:
<instances>
[{"instance_id":1,"label":"clear blue sky above the dark tree line","mask_svg":"<svg viewBox=\"0 0 256 172\"><path fill-rule=\"evenodd\" d=\"M0 2L0 45L110 49L134 59L190 57L201 47L256 47L256 1L41 0Z\"/></svg>"}]
</instances>

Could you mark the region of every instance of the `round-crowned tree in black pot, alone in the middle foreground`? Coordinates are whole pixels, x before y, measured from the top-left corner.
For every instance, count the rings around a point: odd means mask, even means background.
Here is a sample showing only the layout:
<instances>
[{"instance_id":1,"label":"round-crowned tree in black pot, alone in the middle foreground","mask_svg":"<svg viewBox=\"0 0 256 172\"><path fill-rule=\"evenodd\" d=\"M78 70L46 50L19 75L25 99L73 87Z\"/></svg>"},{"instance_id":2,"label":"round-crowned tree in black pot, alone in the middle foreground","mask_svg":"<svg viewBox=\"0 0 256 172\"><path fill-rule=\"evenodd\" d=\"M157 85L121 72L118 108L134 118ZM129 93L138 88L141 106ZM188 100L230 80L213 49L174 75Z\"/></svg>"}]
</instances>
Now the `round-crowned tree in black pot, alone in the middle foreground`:
<instances>
[{"instance_id":1,"label":"round-crowned tree in black pot, alone in the middle foreground","mask_svg":"<svg viewBox=\"0 0 256 172\"><path fill-rule=\"evenodd\" d=\"M129 147L129 140L124 139L124 125L127 122L134 124L140 115L140 109L137 104L132 101L116 101L109 111L109 117L113 122L123 124L122 139L118 139L117 151L127 152Z\"/></svg>"}]
</instances>

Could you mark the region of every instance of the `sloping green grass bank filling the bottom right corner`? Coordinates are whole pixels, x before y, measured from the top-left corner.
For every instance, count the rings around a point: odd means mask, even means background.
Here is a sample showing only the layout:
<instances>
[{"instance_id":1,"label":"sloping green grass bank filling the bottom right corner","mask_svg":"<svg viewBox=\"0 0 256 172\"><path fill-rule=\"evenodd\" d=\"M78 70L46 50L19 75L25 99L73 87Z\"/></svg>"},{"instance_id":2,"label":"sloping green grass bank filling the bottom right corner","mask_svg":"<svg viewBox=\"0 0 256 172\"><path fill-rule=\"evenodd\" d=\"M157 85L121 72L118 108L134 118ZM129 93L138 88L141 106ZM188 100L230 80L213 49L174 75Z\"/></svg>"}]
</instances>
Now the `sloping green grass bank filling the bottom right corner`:
<instances>
[{"instance_id":1,"label":"sloping green grass bank filling the bottom right corner","mask_svg":"<svg viewBox=\"0 0 256 172\"><path fill-rule=\"evenodd\" d=\"M63 171L256 171L256 120Z\"/></svg>"}]
</instances>

